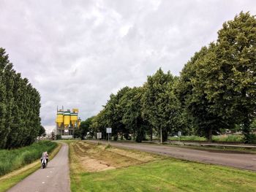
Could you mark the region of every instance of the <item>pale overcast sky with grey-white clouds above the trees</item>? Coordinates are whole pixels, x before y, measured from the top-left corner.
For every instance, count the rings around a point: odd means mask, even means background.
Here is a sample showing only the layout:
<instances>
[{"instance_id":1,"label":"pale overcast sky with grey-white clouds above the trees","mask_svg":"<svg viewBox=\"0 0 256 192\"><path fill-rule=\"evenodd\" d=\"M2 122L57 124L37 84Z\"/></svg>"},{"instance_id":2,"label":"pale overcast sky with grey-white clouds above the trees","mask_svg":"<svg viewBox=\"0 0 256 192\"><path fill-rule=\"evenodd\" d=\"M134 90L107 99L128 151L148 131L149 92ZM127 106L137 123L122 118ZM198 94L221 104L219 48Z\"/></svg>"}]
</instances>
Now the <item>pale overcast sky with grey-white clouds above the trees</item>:
<instances>
[{"instance_id":1,"label":"pale overcast sky with grey-white clouds above the trees","mask_svg":"<svg viewBox=\"0 0 256 192\"><path fill-rule=\"evenodd\" d=\"M51 131L58 105L85 120L159 67L178 75L242 10L256 15L256 1L0 0L0 47L41 94Z\"/></svg>"}]
</instances>

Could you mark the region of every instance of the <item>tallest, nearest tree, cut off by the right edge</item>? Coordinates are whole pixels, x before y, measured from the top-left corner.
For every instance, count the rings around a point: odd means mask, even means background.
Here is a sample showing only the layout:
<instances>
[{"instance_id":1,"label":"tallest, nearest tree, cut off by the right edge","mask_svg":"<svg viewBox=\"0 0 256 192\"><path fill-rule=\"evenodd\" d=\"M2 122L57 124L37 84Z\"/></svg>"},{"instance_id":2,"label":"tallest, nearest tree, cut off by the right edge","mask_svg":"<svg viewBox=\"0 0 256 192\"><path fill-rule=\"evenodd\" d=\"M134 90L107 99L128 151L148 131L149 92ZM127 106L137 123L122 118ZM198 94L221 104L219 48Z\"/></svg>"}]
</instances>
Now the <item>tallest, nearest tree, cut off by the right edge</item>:
<instances>
[{"instance_id":1,"label":"tallest, nearest tree, cut off by the right edge","mask_svg":"<svg viewBox=\"0 0 256 192\"><path fill-rule=\"evenodd\" d=\"M211 111L241 123L245 142L256 111L256 18L241 12L218 31L216 46L200 70Z\"/></svg>"}]
</instances>

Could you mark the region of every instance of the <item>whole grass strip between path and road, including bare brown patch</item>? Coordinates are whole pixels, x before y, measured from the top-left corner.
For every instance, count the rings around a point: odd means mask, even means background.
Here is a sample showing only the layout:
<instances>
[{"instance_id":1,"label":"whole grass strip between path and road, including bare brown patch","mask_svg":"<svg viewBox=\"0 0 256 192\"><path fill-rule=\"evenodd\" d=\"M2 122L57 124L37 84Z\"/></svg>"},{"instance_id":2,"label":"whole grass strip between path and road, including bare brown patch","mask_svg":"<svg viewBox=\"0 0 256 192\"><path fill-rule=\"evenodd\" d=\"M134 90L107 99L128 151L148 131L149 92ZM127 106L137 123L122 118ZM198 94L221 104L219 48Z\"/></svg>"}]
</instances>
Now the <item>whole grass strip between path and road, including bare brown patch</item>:
<instances>
[{"instance_id":1,"label":"whole grass strip between path and road, including bare brown patch","mask_svg":"<svg viewBox=\"0 0 256 192\"><path fill-rule=\"evenodd\" d=\"M72 191L256 191L256 173L69 142Z\"/></svg>"}]
</instances>

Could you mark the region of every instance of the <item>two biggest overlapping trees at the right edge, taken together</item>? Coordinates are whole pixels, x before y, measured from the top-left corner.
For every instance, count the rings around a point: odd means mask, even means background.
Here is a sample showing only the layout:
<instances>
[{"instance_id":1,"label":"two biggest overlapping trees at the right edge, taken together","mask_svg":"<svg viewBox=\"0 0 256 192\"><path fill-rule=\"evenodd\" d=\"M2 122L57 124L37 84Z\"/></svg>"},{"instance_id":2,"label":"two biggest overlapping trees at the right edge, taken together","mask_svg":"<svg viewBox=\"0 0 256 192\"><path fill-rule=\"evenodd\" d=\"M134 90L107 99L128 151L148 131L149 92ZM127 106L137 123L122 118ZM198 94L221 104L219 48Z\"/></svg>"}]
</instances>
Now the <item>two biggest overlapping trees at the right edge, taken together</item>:
<instances>
[{"instance_id":1,"label":"two biggest overlapping trees at the right edge, taken together","mask_svg":"<svg viewBox=\"0 0 256 192\"><path fill-rule=\"evenodd\" d=\"M253 142L256 110L256 19L241 12L223 24L216 43L203 47L181 72L178 98L197 134L242 128Z\"/></svg>"}]
</instances>

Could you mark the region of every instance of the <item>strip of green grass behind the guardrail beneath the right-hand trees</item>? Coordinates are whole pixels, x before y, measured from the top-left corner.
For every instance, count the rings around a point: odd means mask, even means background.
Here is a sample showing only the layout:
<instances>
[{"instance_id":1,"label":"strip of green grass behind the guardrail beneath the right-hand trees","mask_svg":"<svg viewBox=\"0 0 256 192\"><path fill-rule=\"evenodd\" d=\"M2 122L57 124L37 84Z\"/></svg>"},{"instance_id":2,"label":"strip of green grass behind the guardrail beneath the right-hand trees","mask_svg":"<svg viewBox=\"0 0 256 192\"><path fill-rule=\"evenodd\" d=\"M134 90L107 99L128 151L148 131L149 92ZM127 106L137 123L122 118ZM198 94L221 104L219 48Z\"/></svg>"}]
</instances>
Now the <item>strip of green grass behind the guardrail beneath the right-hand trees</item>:
<instances>
[{"instance_id":1,"label":"strip of green grass behind the guardrail beneath the right-hand trees","mask_svg":"<svg viewBox=\"0 0 256 192\"><path fill-rule=\"evenodd\" d=\"M198 137L198 136L181 136L179 137L168 137L169 140L172 141L181 141L181 142L206 142L206 137ZM218 135L212 137L212 142L235 142L235 143L243 143L244 137L242 135Z\"/></svg>"}]
</instances>

